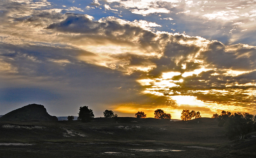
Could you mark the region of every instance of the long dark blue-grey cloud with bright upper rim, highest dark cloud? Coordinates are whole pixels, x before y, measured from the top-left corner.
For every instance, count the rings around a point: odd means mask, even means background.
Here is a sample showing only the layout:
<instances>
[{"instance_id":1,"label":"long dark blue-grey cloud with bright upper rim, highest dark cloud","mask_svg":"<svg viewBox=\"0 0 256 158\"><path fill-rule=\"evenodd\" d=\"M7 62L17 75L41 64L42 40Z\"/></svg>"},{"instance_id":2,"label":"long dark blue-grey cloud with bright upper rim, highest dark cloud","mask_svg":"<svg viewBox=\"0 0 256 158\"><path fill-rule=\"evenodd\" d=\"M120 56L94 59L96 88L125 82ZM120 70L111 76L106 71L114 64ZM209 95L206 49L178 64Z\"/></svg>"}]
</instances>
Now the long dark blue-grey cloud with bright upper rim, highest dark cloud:
<instances>
[{"instance_id":1,"label":"long dark blue-grey cloud with bright upper rim, highest dark cloud","mask_svg":"<svg viewBox=\"0 0 256 158\"><path fill-rule=\"evenodd\" d=\"M140 47L157 49L159 45L157 41L154 40L156 35L153 32L129 24L121 25L116 19L110 18L105 20L103 18L103 20L99 22L90 19L90 17L86 15L73 13L66 13L64 17L67 18L47 26L46 29L56 29L61 32L83 33L87 38L90 38L89 35L94 35L93 38L95 39L100 38L102 40L103 38L120 44L122 44L122 42L129 43L129 41L134 40L134 37L140 37L140 40L138 41ZM130 42L130 44L132 43Z\"/></svg>"}]
</instances>

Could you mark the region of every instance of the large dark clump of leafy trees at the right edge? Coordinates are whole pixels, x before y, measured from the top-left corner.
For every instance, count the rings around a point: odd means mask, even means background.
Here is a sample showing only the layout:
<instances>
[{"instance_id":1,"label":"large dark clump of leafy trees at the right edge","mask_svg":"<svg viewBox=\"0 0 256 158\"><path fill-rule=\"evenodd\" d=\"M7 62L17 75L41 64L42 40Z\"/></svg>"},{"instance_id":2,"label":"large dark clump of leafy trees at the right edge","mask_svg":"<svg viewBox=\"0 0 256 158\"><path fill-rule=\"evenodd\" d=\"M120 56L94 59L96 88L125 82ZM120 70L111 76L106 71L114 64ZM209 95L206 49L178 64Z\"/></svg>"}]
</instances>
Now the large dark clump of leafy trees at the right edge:
<instances>
[{"instance_id":1,"label":"large dark clump of leafy trees at the right edge","mask_svg":"<svg viewBox=\"0 0 256 158\"><path fill-rule=\"evenodd\" d=\"M220 115L213 114L212 118L217 118L218 126L224 126L226 135L230 140L242 140L245 134L251 133L255 130L255 118L248 112L231 113L229 111L222 111Z\"/></svg>"}]
</instances>

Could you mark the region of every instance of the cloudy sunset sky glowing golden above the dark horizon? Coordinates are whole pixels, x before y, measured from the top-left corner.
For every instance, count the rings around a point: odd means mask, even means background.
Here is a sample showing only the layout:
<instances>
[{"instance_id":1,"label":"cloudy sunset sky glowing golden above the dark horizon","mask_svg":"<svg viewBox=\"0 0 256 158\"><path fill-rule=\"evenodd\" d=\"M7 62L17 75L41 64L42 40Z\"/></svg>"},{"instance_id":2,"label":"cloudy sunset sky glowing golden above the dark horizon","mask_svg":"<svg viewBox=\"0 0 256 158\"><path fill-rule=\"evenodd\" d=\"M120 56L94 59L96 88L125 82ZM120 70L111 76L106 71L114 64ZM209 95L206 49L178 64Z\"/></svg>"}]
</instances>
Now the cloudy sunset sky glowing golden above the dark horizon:
<instances>
[{"instance_id":1,"label":"cloudy sunset sky glowing golden above the dark horizon","mask_svg":"<svg viewBox=\"0 0 256 158\"><path fill-rule=\"evenodd\" d=\"M0 115L256 114L256 0L0 0Z\"/></svg>"}]
</instances>

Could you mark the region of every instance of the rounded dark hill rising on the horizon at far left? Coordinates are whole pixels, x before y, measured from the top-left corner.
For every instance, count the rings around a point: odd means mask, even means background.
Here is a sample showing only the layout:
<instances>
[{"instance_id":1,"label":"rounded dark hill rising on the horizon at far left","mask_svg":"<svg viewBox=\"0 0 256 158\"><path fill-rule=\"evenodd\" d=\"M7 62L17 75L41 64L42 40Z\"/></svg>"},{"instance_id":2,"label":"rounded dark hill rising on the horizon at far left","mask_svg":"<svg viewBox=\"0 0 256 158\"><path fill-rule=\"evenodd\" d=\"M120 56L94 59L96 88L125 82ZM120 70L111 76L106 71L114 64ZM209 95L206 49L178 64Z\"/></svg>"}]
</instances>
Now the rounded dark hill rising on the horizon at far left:
<instances>
[{"instance_id":1,"label":"rounded dark hill rising on the horizon at far left","mask_svg":"<svg viewBox=\"0 0 256 158\"><path fill-rule=\"evenodd\" d=\"M29 104L19 109L8 112L0 118L0 121L26 121L26 120L44 120L58 121L56 116L48 114L44 105Z\"/></svg>"}]
</instances>

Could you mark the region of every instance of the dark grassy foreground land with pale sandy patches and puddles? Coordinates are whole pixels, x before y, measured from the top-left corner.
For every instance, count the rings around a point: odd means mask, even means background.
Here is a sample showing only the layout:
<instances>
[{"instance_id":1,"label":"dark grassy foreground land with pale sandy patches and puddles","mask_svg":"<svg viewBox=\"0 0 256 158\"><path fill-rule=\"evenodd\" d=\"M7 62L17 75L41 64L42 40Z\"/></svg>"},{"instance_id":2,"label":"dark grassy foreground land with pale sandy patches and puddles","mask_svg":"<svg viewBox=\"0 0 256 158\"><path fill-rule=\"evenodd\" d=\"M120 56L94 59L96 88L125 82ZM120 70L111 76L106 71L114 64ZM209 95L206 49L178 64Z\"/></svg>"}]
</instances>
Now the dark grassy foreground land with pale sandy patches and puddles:
<instances>
[{"instance_id":1,"label":"dark grassy foreground land with pale sandy patches and puddles","mask_svg":"<svg viewBox=\"0 0 256 158\"><path fill-rule=\"evenodd\" d=\"M256 139L230 141L215 119L95 118L0 122L0 157L255 157Z\"/></svg>"}]
</instances>

